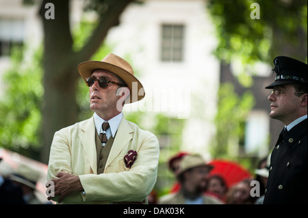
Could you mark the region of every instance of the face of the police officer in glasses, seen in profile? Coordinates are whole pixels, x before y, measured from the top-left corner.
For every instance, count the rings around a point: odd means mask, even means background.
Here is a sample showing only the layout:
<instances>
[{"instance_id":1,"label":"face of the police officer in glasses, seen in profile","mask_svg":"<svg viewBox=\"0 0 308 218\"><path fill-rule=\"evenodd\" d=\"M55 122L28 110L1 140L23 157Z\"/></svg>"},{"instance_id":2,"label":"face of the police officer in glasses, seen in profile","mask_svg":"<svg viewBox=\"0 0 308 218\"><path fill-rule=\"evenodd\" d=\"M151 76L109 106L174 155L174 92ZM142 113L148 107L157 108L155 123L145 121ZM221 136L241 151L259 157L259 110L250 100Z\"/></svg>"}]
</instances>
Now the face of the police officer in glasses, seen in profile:
<instances>
[{"instance_id":1,"label":"face of the police officer in glasses, seen in profile","mask_svg":"<svg viewBox=\"0 0 308 218\"><path fill-rule=\"evenodd\" d=\"M281 120L285 125L290 124L298 118L298 109L302 97L294 95L296 90L293 85L277 85L273 90L279 90L279 94L274 92L268 96L270 100L270 117L273 119Z\"/></svg>"}]
</instances>

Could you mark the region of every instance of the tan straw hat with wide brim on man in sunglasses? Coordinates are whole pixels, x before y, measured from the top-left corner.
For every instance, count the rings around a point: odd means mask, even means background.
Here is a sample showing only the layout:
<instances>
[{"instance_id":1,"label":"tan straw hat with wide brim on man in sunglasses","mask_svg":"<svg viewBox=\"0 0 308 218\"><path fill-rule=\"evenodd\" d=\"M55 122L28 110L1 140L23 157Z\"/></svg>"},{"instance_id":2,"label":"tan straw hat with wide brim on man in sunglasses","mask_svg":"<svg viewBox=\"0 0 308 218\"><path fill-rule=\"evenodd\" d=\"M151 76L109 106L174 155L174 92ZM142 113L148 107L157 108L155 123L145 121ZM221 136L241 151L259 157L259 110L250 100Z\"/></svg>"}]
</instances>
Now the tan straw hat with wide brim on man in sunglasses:
<instances>
[{"instance_id":1,"label":"tan straw hat with wide brim on man in sunglasses","mask_svg":"<svg viewBox=\"0 0 308 218\"><path fill-rule=\"evenodd\" d=\"M108 54L100 61L87 61L82 62L77 66L78 72L82 79L86 81L86 77L90 77L92 72L96 69L103 69L113 72L118 77L123 79L129 90L131 91L129 96L129 102L134 103L144 98L144 88L140 81L133 75L133 68L122 57L118 57L113 53Z\"/></svg>"}]
</instances>

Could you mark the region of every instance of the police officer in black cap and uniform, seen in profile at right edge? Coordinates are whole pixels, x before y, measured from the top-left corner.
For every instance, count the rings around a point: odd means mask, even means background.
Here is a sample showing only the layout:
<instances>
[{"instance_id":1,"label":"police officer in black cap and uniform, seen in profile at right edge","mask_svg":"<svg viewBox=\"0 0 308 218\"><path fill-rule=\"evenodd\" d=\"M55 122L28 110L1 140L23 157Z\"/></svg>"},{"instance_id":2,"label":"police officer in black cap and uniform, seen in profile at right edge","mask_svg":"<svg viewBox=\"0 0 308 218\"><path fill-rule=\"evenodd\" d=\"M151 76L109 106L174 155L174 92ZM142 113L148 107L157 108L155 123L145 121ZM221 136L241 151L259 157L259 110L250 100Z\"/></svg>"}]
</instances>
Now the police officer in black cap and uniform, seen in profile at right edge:
<instances>
[{"instance_id":1,"label":"police officer in black cap and uniform, seen in profile at right edge","mask_svg":"<svg viewBox=\"0 0 308 218\"><path fill-rule=\"evenodd\" d=\"M285 124L270 156L264 204L307 204L307 64L274 59L270 117Z\"/></svg>"}]
</instances>

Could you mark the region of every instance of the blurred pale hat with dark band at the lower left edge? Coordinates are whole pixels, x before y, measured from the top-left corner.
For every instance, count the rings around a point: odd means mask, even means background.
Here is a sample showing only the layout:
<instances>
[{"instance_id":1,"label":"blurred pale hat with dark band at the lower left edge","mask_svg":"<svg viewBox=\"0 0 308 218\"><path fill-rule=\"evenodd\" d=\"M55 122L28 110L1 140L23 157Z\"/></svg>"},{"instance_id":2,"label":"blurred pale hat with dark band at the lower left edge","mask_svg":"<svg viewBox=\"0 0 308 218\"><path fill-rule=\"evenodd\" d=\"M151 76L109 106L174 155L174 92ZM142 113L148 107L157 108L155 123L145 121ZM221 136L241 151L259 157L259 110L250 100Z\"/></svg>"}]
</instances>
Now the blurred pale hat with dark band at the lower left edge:
<instances>
[{"instance_id":1,"label":"blurred pale hat with dark band at the lower left edge","mask_svg":"<svg viewBox=\"0 0 308 218\"><path fill-rule=\"evenodd\" d=\"M40 173L25 164L18 165L16 172L10 175L10 180L27 185L32 189L36 189L38 178L40 178Z\"/></svg>"}]
</instances>

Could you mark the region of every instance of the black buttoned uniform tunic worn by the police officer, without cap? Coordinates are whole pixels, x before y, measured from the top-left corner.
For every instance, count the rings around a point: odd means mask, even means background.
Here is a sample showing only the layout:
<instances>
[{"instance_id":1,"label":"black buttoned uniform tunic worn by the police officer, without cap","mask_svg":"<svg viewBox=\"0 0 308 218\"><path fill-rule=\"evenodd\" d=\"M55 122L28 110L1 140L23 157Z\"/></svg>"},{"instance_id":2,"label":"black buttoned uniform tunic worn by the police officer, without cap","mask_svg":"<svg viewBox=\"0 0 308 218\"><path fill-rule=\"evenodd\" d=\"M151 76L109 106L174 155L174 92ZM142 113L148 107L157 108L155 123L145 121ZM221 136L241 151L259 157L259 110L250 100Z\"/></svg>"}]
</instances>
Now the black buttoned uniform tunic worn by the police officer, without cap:
<instances>
[{"instance_id":1,"label":"black buttoned uniform tunic worn by the police officer, without cap","mask_svg":"<svg viewBox=\"0 0 308 218\"><path fill-rule=\"evenodd\" d=\"M270 156L264 204L307 204L307 119L280 138Z\"/></svg>"}]
</instances>

